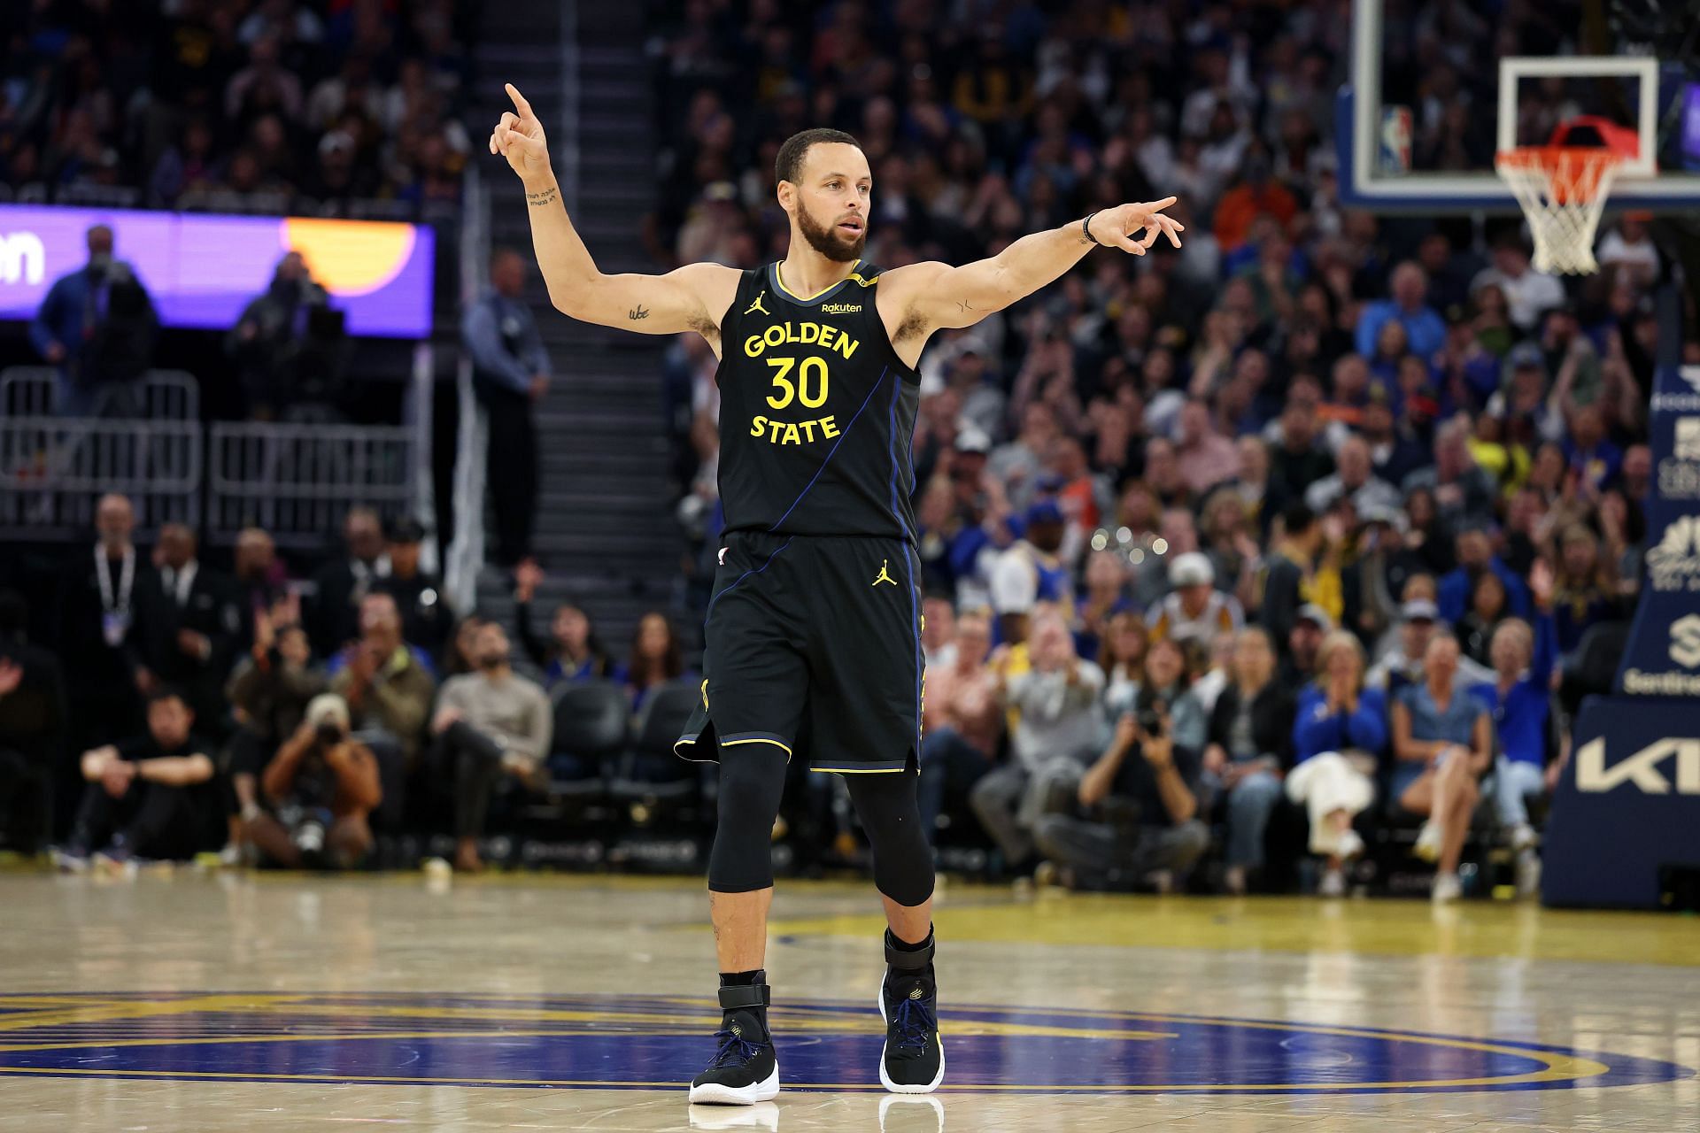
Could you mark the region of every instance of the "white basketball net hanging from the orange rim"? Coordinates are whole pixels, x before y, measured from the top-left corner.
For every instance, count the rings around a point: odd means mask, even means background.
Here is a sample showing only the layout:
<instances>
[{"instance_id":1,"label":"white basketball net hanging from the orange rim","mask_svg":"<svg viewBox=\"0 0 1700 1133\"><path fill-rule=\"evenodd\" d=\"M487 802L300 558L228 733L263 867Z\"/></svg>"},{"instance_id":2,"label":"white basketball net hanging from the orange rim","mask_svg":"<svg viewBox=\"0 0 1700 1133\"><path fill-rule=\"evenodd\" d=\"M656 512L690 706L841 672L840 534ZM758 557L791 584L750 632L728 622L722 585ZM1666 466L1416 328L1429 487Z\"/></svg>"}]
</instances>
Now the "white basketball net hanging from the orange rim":
<instances>
[{"instance_id":1,"label":"white basketball net hanging from the orange rim","mask_svg":"<svg viewBox=\"0 0 1700 1133\"><path fill-rule=\"evenodd\" d=\"M1612 149L1530 146L1494 160L1535 236L1535 270L1590 275L1595 229L1622 156Z\"/></svg>"}]
</instances>

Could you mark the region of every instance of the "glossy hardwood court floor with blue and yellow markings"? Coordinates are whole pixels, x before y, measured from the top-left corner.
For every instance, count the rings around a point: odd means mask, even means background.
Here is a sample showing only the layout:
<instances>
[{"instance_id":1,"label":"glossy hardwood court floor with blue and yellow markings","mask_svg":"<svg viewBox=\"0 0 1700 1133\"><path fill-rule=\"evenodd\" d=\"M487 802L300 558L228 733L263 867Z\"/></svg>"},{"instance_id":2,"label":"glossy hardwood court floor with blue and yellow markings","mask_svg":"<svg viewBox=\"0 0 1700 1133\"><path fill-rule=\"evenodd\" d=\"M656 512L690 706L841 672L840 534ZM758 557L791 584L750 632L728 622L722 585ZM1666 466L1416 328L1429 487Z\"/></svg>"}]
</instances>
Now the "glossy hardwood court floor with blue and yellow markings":
<instances>
[{"instance_id":1,"label":"glossy hardwood court floor with blue and yellow markings","mask_svg":"<svg viewBox=\"0 0 1700 1133\"><path fill-rule=\"evenodd\" d=\"M782 887L785 1091L692 1109L700 882L0 873L0 1131L1700 1128L1695 917L952 885L901 1101L872 910Z\"/></svg>"}]
</instances>

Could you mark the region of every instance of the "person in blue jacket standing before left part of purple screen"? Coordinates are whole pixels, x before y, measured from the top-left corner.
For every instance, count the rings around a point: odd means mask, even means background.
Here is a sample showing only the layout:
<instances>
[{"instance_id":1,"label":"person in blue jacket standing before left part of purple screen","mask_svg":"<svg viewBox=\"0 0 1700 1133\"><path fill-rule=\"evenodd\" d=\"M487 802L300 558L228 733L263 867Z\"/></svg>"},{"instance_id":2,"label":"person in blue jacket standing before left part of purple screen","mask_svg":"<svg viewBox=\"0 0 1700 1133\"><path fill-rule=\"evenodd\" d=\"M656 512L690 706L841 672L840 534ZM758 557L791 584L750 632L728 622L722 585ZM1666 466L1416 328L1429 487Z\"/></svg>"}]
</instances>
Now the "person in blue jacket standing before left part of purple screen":
<instances>
[{"instance_id":1,"label":"person in blue jacket standing before left part of purple screen","mask_svg":"<svg viewBox=\"0 0 1700 1133\"><path fill-rule=\"evenodd\" d=\"M134 414L131 382L153 358L160 330L146 285L112 258L112 229L88 229L88 263L54 280L29 326L29 340L60 367L53 409L60 416Z\"/></svg>"}]
</instances>

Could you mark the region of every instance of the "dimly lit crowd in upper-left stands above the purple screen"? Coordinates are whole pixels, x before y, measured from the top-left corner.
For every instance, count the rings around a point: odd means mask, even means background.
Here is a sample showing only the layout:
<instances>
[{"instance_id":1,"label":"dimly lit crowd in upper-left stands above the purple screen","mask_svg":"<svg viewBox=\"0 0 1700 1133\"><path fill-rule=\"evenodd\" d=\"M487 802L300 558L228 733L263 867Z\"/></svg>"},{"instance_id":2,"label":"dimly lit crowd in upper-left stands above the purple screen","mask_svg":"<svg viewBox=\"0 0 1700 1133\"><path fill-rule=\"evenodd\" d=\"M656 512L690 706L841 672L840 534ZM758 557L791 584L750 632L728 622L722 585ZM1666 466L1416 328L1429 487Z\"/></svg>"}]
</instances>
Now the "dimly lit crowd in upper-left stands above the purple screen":
<instances>
[{"instance_id":1,"label":"dimly lit crowd in upper-left stands above the purple screen","mask_svg":"<svg viewBox=\"0 0 1700 1133\"><path fill-rule=\"evenodd\" d=\"M473 8L454 0L54 0L0 37L19 200L335 212L454 202Z\"/></svg>"}]
</instances>

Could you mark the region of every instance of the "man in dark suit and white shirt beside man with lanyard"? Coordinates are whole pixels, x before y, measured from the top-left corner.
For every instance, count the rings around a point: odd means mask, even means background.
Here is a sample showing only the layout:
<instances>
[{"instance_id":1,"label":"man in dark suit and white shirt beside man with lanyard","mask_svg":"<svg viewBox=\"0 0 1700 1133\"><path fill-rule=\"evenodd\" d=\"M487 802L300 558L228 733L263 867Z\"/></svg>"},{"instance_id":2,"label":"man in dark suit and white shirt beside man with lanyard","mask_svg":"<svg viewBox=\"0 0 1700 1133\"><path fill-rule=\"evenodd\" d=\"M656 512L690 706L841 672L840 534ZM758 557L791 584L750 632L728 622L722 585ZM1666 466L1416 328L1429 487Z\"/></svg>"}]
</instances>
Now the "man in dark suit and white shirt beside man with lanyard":
<instances>
[{"instance_id":1,"label":"man in dark suit and white shirt beside man with lanyard","mask_svg":"<svg viewBox=\"0 0 1700 1133\"><path fill-rule=\"evenodd\" d=\"M136 683L151 693L160 683L184 691L202 734L224 732L224 676L241 639L235 584L196 557L196 535L182 523L160 528L158 574L139 589L136 608L141 668Z\"/></svg>"}]
</instances>

